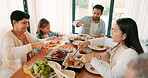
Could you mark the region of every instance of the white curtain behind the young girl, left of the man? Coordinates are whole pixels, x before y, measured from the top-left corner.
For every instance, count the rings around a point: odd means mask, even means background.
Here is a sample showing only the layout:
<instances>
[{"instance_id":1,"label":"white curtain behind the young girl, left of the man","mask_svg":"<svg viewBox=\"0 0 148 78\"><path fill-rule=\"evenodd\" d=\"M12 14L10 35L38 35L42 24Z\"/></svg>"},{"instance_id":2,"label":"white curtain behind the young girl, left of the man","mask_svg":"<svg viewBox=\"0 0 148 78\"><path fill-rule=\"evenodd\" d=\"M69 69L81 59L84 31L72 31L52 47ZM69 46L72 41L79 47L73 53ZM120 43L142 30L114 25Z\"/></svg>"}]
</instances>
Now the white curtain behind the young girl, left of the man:
<instances>
[{"instance_id":1,"label":"white curtain behind the young girl, left of the man","mask_svg":"<svg viewBox=\"0 0 148 78\"><path fill-rule=\"evenodd\" d=\"M70 33L72 28L71 0L28 0L31 33L37 31L41 18L46 18L51 25L51 31Z\"/></svg>"}]
</instances>

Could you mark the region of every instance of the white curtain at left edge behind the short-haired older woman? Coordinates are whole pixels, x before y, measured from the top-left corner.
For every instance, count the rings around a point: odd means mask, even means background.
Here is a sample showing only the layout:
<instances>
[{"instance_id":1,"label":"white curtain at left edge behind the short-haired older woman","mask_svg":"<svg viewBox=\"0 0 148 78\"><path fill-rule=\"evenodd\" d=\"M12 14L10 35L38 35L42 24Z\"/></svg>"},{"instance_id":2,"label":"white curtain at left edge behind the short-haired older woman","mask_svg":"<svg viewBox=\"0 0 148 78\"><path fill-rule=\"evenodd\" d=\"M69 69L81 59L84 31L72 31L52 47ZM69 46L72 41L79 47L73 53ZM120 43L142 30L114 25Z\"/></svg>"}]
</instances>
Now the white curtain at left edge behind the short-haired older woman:
<instances>
[{"instance_id":1,"label":"white curtain at left edge behind the short-haired older woman","mask_svg":"<svg viewBox=\"0 0 148 78\"><path fill-rule=\"evenodd\" d=\"M3 77L5 73L1 69L1 41L6 32L12 29L10 14L14 10L24 10L23 0L0 0L0 78L7 78L8 75Z\"/></svg>"}]
</instances>

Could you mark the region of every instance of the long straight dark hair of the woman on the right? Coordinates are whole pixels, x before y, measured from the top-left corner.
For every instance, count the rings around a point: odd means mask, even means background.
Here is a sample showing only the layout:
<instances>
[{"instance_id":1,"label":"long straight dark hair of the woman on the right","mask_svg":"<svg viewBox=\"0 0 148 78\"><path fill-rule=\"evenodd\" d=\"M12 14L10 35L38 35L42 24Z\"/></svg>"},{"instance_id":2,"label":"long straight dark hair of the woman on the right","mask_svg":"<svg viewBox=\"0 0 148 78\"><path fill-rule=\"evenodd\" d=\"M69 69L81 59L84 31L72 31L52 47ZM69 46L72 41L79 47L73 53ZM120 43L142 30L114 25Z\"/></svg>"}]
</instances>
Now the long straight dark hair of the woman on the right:
<instances>
[{"instance_id":1,"label":"long straight dark hair of the woman on the right","mask_svg":"<svg viewBox=\"0 0 148 78\"><path fill-rule=\"evenodd\" d=\"M124 44L133 48L137 51L138 54L143 53L139 37L138 37L138 28L136 22L131 18L120 18L116 21L122 33L126 33L127 36L124 40Z\"/></svg>"}]
</instances>

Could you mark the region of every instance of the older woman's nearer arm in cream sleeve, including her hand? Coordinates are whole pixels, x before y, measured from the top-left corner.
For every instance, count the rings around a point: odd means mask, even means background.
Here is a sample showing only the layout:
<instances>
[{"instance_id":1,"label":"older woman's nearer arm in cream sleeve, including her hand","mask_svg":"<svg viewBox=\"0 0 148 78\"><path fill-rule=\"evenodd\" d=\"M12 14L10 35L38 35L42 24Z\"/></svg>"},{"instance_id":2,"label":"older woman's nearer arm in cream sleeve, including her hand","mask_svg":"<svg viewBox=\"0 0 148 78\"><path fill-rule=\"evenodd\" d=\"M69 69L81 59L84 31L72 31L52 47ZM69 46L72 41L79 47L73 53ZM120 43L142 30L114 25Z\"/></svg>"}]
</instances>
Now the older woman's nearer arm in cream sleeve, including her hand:
<instances>
[{"instance_id":1,"label":"older woman's nearer arm in cream sleeve, including her hand","mask_svg":"<svg viewBox=\"0 0 148 78\"><path fill-rule=\"evenodd\" d=\"M22 45L20 41L15 41L12 37L5 37L3 40L3 55L9 60L24 57L28 52L33 49L41 49L44 43L31 43Z\"/></svg>"}]
</instances>

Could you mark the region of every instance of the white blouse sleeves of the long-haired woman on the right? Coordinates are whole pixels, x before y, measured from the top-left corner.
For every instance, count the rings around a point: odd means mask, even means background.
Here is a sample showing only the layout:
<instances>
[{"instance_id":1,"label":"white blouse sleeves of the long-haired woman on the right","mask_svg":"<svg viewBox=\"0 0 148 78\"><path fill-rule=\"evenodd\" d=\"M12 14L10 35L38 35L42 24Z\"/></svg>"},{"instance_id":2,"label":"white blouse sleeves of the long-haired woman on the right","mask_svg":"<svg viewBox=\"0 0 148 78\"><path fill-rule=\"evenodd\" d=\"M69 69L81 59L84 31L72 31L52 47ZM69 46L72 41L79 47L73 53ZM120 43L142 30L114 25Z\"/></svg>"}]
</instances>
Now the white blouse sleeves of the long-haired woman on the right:
<instances>
[{"instance_id":1,"label":"white blouse sleeves of the long-haired woman on the right","mask_svg":"<svg viewBox=\"0 0 148 78\"><path fill-rule=\"evenodd\" d=\"M90 45L104 44L108 47L114 47L115 45L117 45L117 43L112 42L111 38L98 38L90 40L90 43ZM112 51L110 52L110 54L112 54ZM104 78L122 78L124 77L127 63L137 55L138 54L134 49L127 48L123 50L121 55L119 55L119 57L116 59L116 64L113 67L107 62L98 60L97 58L93 58L90 64Z\"/></svg>"}]
</instances>

